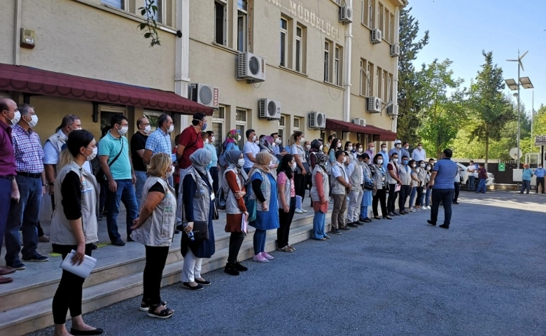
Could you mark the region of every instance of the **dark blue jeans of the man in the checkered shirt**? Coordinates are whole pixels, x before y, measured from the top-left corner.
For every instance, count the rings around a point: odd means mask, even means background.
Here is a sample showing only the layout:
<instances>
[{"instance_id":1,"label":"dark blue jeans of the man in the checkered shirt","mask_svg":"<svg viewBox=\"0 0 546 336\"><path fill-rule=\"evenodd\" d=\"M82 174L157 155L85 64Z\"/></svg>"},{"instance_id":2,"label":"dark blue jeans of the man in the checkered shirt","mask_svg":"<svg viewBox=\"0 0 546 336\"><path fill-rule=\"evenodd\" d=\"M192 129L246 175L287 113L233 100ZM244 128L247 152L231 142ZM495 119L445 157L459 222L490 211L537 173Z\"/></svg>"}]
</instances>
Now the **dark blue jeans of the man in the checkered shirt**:
<instances>
[{"instance_id":1,"label":"dark blue jeans of the man in the checkered shirt","mask_svg":"<svg viewBox=\"0 0 546 336\"><path fill-rule=\"evenodd\" d=\"M15 181L19 187L20 199L19 202L11 201L6 224L7 266L20 262L20 252L25 259L35 257L38 247L38 215L42 202L42 179L18 175L15 176ZM22 231L22 250L19 230Z\"/></svg>"}]
</instances>

